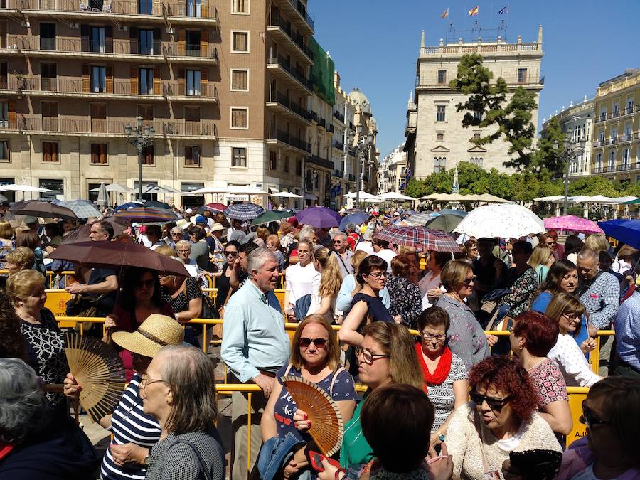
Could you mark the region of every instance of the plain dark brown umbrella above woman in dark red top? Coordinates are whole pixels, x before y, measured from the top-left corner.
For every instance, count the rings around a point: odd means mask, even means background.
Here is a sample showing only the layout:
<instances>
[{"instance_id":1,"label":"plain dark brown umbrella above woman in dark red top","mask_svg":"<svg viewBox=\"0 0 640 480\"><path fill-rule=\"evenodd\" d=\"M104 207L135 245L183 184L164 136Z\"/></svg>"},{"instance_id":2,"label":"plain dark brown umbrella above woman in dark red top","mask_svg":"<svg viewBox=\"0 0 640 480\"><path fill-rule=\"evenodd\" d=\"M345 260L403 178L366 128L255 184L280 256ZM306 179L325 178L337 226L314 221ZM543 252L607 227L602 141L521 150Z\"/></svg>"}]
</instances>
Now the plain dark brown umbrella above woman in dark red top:
<instances>
[{"instance_id":1,"label":"plain dark brown umbrella above woman in dark red top","mask_svg":"<svg viewBox=\"0 0 640 480\"><path fill-rule=\"evenodd\" d=\"M78 242L60 245L48 258L68 260L87 267L110 268L140 267L156 272L188 277L179 260L165 257L139 243Z\"/></svg>"}]
</instances>

